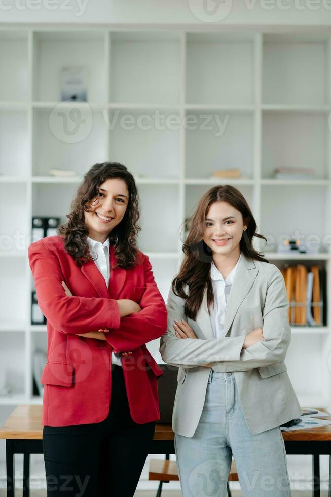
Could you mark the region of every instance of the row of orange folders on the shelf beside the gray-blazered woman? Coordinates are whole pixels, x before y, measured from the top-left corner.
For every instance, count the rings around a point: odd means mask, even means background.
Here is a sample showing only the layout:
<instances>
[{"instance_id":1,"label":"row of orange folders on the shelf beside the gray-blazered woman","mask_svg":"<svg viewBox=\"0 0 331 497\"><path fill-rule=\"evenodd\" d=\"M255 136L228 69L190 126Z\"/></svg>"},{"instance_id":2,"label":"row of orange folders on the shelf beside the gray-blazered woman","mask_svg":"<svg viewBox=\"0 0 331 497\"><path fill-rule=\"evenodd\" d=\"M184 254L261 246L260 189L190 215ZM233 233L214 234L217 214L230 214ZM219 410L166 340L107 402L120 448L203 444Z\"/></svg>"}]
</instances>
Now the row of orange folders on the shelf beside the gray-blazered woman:
<instances>
[{"instance_id":1,"label":"row of orange folders on the shelf beside the gray-blazered woman","mask_svg":"<svg viewBox=\"0 0 331 497\"><path fill-rule=\"evenodd\" d=\"M325 269L302 264L283 266L291 325L320 326L325 323Z\"/></svg>"}]
</instances>

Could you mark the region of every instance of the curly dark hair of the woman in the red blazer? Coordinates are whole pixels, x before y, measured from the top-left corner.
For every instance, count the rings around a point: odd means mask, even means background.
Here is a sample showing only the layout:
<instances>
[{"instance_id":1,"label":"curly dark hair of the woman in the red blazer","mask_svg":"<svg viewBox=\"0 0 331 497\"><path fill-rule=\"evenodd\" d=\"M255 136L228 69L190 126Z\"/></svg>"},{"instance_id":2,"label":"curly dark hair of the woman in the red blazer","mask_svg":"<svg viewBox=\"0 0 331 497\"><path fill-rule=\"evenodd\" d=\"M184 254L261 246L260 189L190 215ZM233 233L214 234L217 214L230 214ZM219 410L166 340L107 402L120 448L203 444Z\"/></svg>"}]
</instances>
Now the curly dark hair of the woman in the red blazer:
<instances>
[{"instance_id":1,"label":"curly dark hair of the woman in the red blazer","mask_svg":"<svg viewBox=\"0 0 331 497\"><path fill-rule=\"evenodd\" d=\"M129 268L138 264L136 236L140 231L139 196L134 177L127 168L118 162L94 164L84 175L76 196L71 202L69 221L59 226L59 234L64 240L64 250L70 254L77 266L82 266L93 258L89 252L86 238L89 235L84 222L84 212L90 212L87 204L98 197L99 186L109 178L122 179L129 191L128 206L122 221L109 233L109 242L114 246L116 266ZM115 266L114 266L115 267Z\"/></svg>"}]
</instances>

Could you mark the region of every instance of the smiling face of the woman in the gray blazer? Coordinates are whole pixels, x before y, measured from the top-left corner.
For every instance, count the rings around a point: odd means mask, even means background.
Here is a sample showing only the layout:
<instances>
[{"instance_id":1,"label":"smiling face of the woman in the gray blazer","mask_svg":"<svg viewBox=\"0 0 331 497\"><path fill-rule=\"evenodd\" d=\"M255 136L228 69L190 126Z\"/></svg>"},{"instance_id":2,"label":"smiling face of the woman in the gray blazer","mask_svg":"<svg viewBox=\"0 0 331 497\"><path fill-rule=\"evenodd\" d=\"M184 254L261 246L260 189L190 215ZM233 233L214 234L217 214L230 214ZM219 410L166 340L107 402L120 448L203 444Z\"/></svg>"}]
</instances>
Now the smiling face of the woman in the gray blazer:
<instances>
[{"instance_id":1,"label":"smiling face of the woman in the gray blazer","mask_svg":"<svg viewBox=\"0 0 331 497\"><path fill-rule=\"evenodd\" d=\"M240 255L239 242L243 229L242 214L228 202L214 202L205 218L204 242L213 253L213 259Z\"/></svg>"}]
</instances>

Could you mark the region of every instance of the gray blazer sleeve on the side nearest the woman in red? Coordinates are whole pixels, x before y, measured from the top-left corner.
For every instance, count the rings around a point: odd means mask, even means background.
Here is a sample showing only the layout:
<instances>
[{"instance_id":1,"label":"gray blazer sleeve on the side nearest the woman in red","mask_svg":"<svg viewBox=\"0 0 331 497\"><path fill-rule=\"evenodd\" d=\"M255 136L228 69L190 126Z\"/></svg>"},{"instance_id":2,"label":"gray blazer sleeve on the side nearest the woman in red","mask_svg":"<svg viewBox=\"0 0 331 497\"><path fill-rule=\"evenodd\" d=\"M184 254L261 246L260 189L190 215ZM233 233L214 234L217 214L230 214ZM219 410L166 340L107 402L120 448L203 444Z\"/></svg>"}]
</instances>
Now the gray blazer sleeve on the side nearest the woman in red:
<instances>
[{"instance_id":1,"label":"gray blazer sleeve on the side nearest the woman in red","mask_svg":"<svg viewBox=\"0 0 331 497\"><path fill-rule=\"evenodd\" d=\"M177 338L173 329L174 319L185 318L185 301L170 289L168 296L167 333L161 337L160 352L163 361L171 366L195 368L213 361L240 358L245 336L224 338Z\"/></svg>"}]
</instances>

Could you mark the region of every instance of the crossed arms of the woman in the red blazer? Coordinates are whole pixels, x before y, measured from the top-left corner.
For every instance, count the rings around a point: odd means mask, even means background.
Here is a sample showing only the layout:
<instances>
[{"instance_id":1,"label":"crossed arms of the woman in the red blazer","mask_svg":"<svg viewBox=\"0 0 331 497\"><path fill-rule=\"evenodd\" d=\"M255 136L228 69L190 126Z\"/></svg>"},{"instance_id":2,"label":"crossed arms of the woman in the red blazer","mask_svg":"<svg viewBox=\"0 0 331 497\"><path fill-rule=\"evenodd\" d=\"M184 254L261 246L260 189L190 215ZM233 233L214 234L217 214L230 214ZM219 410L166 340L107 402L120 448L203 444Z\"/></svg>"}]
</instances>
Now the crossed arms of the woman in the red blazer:
<instances>
[{"instance_id":1,"label":"crossed arms of the woman in the red blazer","mask_svg":"<svg viewBox=\"0 0 331 497\"><path fill-rule=\"evenodd\" d=\"M106 339L114 352L123 352L166 331L166 306L147 256L143 261L145 292L138 305L129 299L73 296L65 283L63 286L56 253L43 240L32 243L28 255L41 310L59 332L85 337L92 333L93 338ZM98 332L101 328L109 332Z\"/></svg>"}]
</instances>

